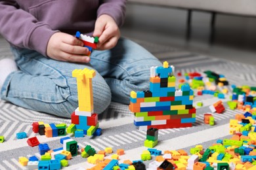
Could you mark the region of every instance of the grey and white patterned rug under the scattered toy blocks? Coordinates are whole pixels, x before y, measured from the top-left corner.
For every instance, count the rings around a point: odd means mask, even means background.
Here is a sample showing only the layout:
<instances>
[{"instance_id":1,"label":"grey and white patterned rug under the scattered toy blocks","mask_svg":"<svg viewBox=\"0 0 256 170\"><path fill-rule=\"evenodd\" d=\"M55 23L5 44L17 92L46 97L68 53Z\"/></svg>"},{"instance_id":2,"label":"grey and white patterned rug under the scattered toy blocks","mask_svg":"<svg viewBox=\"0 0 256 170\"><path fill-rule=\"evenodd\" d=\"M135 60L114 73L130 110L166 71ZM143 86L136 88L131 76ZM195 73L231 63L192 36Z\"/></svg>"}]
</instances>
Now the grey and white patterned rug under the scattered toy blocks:
<instances>
[{"instance_id":1,"label":"grey and white patterned rug under the scattered toy blocks","mask_svg":"<svg viewBox=\"0 0 256 170\"><path fill-rule=\"evenodd\" d=\"M211 70L215 73L226 76L230 84L256 86L256 67L245 65L233 61L211 58L200 54L186 52L169 46L160 46L150 42L137 41L144 48L150 50L161 61L168 61L175 66L175 72L182 74L188 72L202 73L205 70ZM3 39L0 39L0 59L12 57L9 51L9 45ZM221 90L221 89L219 89ZM231 95L231 87L228 86L228 96ZM229 97L223 99L224 105ZM190 148L197 144L202 144L207 148L215 143L217 139L230 137L228 123L230 118L234 118L236 113L243 113L240 110L230 110L226 107L224 114L213 114L215 126L203 124L203 114L211 112L209 105L218 101L217 97L212 95L196 96L194 105L203 102L203 107L197 107L196 123L193 127L177 129L160 129L159 143L156 146L158 150L177 150L184 149L189 152ZM0 100L0 136L5 136L6 141L0 143L0 169L26 169L18 163L21 156L37 156L40 158L38 148L30 147L26 143L27 139L16 139L16 133L25 131L28 137L37 136L40 143L48 143L51 149L60 148L60 137L47 138L39 136L32 132L32 122L42 121L45 123L66 123L70 125L70 119L58 118L41 112L23 109ZM114 152L118 148L125 150L125 155L120 156L120 162L123 160L140 160L140 154L147 148L144 147L146 139L145 131L138 131L133 125L133 114L129 111L127 105L111 103L110 107L99 115L102 135L100 137L74 138L81 147L90 144L96 151L104 150L106 147L112 147ZM106 158L110 158L107 156ZM87 159L80 155L75 156L69 161L70 166L67 169L77 169L77 167L93 167L87 163ZM144 162L146 165L150 161Z\"/></svg>"}]
</instances>

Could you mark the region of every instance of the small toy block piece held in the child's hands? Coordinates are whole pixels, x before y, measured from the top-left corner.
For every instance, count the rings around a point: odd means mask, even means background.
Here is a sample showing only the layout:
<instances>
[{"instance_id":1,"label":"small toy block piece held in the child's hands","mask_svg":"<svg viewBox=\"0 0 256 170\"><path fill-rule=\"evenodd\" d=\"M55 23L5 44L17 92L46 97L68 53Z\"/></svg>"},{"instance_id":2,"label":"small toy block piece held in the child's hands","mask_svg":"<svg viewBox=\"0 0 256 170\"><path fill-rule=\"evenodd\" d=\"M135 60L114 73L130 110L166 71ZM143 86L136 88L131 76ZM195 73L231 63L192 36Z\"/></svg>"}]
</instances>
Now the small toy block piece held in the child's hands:
<instances>
[{"instance_id":1,"label":"small toy block piece held in the child's hands","mask_svg":"<svg viewBox=\"0 0 256 170\"><path fill-rule=\"evenodd\" d=\"M96 49L98 37L89 37L87 35L81 34L79 31L75 33L75 37L81 40L83 42L83 46L89 49L89 54L87 54L87 56L90 56L91 52L93 52L93 49Z\"/></svg>"}]
</instances>

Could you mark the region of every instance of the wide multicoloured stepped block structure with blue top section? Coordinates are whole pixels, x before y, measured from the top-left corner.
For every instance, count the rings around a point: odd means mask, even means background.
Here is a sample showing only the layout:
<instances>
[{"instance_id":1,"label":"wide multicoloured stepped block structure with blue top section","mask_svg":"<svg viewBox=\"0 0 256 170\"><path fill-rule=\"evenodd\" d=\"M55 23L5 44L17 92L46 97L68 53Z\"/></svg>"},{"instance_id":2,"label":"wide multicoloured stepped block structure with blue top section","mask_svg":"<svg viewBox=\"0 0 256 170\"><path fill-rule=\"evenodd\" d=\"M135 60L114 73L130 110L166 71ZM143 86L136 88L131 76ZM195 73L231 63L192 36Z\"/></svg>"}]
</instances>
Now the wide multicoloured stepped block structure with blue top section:
<instances>
[{"instance_id":1,"label":"wide multicoloured stepped block structure with blue top section","mask_svg":"<svg viewBox=\"0 0 256 170\"><path fill-rule=\"evenodd\" d=\"M163 67L151 67L150 90L131 92L129 109L134 112L134 124L139 129L191 127L196 122L194 92L188 84L175 90L174 69L167 61Z\"/></svg>"}]
</instances>

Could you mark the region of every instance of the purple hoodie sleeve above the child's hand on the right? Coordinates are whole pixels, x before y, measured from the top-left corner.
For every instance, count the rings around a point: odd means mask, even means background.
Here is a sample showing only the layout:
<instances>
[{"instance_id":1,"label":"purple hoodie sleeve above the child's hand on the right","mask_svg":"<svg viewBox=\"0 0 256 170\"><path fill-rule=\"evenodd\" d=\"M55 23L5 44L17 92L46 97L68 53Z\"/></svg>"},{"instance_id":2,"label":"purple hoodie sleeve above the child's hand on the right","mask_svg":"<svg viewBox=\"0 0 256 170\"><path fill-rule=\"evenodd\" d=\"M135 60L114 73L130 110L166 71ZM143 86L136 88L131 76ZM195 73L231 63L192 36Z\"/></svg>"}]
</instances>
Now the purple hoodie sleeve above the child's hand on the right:
<instances>
[{"instance_id":1,"label":"purple hoodie sleeve above the child's hand on the right","mask_svg":"<svg viewBox=\"0 0 256 170\"><path fill-rule=\"evenodd\" d=\"M127 0L102 0L97 11L97 16L108 14L114 18L118 26L123 25L126 1Z\"/></svg>"}]
</instances>

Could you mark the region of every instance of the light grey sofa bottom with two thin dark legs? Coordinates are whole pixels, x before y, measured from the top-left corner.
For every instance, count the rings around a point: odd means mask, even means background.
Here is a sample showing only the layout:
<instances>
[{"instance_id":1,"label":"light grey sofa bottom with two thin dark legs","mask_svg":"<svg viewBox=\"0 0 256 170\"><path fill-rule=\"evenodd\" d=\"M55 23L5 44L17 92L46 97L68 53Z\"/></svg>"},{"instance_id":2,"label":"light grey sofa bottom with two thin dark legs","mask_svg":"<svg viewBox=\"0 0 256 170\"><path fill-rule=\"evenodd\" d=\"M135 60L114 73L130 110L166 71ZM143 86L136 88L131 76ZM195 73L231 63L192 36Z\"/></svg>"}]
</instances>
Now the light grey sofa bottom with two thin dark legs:
<instances>
[{"instance_id":1,"label":"light grey sofa bottom with two thin dark legs","mask_svg":"<svg viewBox=\"0 0 256 170\"><path fill-rule=\"evenodd\" d=\"M190 39L190 27L193 10L211 12L211 30L209 42L214 42L215 20L217 14L237 16L256 16L256 0L128 0L139 5L161 6L185 9L188 11L186 38Z\"/></svg>"}]
</instances>

